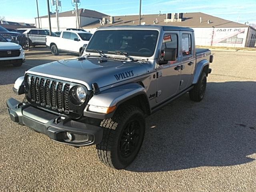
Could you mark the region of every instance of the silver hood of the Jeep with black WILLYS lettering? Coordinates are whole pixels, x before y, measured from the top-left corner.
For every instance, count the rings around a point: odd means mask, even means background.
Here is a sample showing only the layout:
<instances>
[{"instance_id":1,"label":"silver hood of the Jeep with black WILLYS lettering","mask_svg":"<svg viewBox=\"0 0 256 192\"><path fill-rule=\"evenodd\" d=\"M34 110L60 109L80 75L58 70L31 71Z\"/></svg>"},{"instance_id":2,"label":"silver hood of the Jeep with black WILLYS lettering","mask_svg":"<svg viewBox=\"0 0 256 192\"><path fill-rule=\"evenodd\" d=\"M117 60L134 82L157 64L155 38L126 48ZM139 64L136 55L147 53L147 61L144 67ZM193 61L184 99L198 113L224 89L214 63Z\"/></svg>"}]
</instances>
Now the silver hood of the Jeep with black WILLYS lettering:
<instances>
[{"instance_id":1,"label":"silver hood of the Jeep with black WILLYS lettering","mask_svg":"<svg viewBox=\"0 0 256 192\"><path fill-rule=\"evenodd\" d=\"M98 58L60 60L36 66L27 73L81 83L88 90L92 89L94 82L102 88L147 73L145 63L142 62L98 61Z\"/></svg>"}]
</instances>

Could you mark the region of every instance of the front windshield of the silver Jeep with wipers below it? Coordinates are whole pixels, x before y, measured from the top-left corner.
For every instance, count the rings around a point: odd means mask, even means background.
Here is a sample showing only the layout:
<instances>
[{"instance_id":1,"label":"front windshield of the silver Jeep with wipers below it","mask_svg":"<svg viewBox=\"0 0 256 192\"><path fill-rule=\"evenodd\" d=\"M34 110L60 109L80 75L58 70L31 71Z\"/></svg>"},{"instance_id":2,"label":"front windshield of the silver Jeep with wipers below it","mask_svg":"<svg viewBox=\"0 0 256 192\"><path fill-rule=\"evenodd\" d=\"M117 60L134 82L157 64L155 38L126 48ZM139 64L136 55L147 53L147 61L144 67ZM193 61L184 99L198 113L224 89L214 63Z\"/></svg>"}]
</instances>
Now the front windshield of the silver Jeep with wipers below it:
<instances>
[{"instance_id":1,"label":"front windshield of the silver Jeep with wipers below it","mask_svg":"<svg viewBox=\"0 0 256 192\"><path fill-rule=\"evenodd\" d=\"M156 30L99 30L94 33L86 50L150 57L154 54L157 39Z\"/></svg>"}]
</instances>

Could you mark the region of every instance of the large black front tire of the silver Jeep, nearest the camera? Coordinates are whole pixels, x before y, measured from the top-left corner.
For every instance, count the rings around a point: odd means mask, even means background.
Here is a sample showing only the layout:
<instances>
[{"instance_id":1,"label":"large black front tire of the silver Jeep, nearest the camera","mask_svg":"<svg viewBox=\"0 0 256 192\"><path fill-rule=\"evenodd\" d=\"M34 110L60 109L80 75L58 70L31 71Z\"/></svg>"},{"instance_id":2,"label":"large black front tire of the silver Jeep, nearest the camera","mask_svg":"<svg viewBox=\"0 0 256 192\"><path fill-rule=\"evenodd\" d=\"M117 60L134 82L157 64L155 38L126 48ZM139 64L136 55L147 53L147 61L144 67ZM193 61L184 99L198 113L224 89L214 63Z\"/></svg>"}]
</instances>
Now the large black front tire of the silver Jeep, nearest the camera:
<instances>
[{"instance_id":1,"label":"large black front tire of the silver Jeep, nearest the camera","mask_svg":"<svg viewBox=\"0 0 256 192\"><path fill-rule=\"evenodd\" d=\"M122 156L120 145L124 143L127 144L127 142L124 141L125 139L123 136L124 134L126 135L129 123L133 121L139 124L139 128L137 129L140 130L140 136L137 137L138 141L137 144L134 145L134 151L130 156L124 157ZM123 169L132 163L136 158L144 139L145 117L142 110L131 105L120 106L116 110L114 116L112 118L102 120L100 126L104 130L102 141L96 145L96 152L99 160L107 166L115 169Z\"/></svg>"}]
</instances>

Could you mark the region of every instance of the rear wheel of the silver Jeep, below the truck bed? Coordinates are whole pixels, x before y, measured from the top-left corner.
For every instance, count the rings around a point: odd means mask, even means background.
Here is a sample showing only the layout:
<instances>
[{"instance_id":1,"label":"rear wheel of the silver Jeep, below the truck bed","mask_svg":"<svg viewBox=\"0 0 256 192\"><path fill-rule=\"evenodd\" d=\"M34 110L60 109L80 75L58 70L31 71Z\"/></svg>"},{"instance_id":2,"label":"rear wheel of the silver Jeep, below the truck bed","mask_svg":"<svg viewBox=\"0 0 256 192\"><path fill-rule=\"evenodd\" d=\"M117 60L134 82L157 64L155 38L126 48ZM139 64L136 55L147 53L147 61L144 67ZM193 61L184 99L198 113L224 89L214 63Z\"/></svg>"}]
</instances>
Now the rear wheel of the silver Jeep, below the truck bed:
<instances>
[{"instance_id":1,"label":"rear wheel of the silver Jeep, below the truck bed","mask_svg":"<svg viewBox=\"0 0 256 192\"><path fill-rule=\"evenodd\" d=\"M190 90L189 97L192 101L201 101L204 98L206 91L207 78L205 72L202 72L200 79L194 88Z\"/></svg>"}]
</instances>

